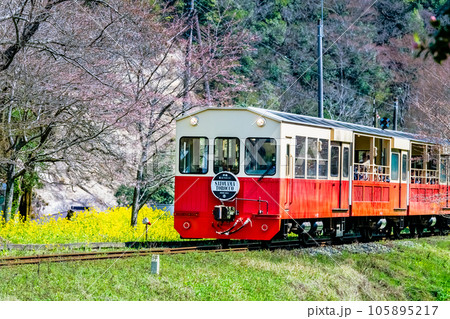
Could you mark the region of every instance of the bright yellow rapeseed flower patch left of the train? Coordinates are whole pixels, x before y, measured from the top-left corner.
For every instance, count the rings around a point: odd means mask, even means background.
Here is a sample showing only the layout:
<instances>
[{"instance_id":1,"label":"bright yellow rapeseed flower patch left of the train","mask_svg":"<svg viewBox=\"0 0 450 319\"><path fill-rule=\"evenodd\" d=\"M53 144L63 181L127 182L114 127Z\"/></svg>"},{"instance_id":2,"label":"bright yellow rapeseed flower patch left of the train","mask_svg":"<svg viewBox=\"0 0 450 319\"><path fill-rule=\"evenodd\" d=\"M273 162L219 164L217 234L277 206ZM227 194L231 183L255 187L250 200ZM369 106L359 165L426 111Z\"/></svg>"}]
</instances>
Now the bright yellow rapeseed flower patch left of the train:
<instances>
[{"instance_id":1,"label":"bright yellow rapeseed flower patch left of the train","mask_svg":"<svg viewBox=\"0 0 450 319\"><path fill-rule=\"evenodd\" d=\"M144 206L138 215L138 224L130 227L131 208L115 207L106 211L89 209L76 213L71 220L48 219L21 222L18 217L9 223L0 222L0 238L16 244L63 244L93 242L144 241L147 217L149 241L180 239L173 227L173 216L168 212Z\"/></svg>"}]
</instances>

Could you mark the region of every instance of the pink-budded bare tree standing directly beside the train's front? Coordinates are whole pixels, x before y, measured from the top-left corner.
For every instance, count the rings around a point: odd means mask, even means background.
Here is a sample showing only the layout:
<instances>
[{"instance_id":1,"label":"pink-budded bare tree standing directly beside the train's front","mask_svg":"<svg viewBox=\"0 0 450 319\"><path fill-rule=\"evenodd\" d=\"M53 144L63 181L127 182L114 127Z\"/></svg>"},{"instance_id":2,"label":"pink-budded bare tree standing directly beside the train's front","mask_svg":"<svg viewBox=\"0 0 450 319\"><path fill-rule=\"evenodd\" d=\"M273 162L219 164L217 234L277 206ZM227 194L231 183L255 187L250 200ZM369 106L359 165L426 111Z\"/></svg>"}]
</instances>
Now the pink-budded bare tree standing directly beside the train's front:
<instances>
[{"instance_id":1,"label":"pink-budded bare tree standing directly beside the train's front","mask_svg":"<svg viewBox=\"0 0 450 319\"><path fill-rule=\"evenodd\" d=\"M239 58L252 39L221 11L214 24L198 25L201 30L197 37L203 38L202 41L197 38L195 43L182 36L189 25L185 17L177 16L170 8L165 11L135 8L133 12L122 21L123 25L116 26L120 28L116 37L118 47L128 47L129 54L118 51L122 59L116 60L116 67L122 72L115 79L123 94L121 103L131 110L124 119L125 127L136 136L132 226L150 196L173 177L173 166L164 163L173 162L170 150L176 117L188 110L187 105L194 108L211 101L228 105L233 92L243 89L233 70L239 66ZM169 13L173 18L167 22L162 17ZM184 55L187 46L190 46L188 63ZM210 93L203 91L205 86L209 87L206 81L211 83ZM189 104L183 103L186 96Z\"/></svg>"}]
</instances>

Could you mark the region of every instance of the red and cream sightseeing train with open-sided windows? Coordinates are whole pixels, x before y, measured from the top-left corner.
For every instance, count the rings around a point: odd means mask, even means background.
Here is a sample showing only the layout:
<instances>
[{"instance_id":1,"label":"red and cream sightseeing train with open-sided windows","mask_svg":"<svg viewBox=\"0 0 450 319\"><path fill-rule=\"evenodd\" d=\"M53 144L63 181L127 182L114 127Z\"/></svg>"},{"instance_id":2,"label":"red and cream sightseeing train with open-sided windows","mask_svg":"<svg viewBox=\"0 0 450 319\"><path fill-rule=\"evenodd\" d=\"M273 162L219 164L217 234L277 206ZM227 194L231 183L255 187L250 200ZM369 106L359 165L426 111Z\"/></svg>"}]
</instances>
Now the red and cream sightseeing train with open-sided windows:
<instances>
[{"instance_id":1,"label":"red and cream sightseeing train with open-sided windows","mask_svg":"<svg viewBox=\"0 0 450 319\"><path fill-rule=\"evenodd\" d=\"M183 238L271 240L409 227L447 232L447 146L410 133L258 108L177 121L175 229Z\"/></svg>"}]
</instances>

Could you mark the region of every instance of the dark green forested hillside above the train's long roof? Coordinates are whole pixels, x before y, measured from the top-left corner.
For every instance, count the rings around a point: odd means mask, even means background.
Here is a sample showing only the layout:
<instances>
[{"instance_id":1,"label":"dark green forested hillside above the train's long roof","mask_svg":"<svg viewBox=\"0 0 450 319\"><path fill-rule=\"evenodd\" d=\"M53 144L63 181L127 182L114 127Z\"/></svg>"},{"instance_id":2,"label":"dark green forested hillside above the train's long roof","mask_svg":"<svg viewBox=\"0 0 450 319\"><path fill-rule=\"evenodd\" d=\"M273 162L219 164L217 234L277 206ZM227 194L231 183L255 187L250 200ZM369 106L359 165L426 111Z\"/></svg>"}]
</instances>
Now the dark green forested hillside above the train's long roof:
<instances>
[{"instance_id":1,"label":"dark green forested hillside above the train's long roof","mask_svg":"<svg viewBox=\"0 0 450 319\"><path fill-rule=\"evenodd\" d=\"M445 1L324 1L325 117L372 125L372 107L392 118L399 98L400 127L413 128L414 104L423 82L432 81L448 100L448 79L436 80L432 59L414 58L413 34L425 36L428 21ZM205 1L196 1L207 10ZM237 104L317 115L317 20L320 1L236 1L248 30L258 36L242 58L253 85ZM448 63L441 75L448 74ZM439 72L438 72L439 73Z\"/></svg>"}]
</instances>

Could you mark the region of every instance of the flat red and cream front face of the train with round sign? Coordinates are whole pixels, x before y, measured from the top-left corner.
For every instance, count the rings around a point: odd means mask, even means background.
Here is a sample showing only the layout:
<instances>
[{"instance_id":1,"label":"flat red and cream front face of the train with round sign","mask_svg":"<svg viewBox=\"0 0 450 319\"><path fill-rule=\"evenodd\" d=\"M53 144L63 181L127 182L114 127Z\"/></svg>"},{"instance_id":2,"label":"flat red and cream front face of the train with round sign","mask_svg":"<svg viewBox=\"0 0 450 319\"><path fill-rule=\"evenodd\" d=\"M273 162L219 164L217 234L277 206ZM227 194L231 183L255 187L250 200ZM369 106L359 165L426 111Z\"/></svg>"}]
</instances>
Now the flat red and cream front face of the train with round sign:
<instances>
[{"instance_id":1,"label":"flat red and cream front face of the train with round sign","mask_svg":"<svg viewBox=\"0 0 450 319\"><path fill-rule=\"evenodd\" d=\"M175 229L182 238L270 240L280 230L280 123L210 108L177 121Z\"/></svg>"}]
</instances>

